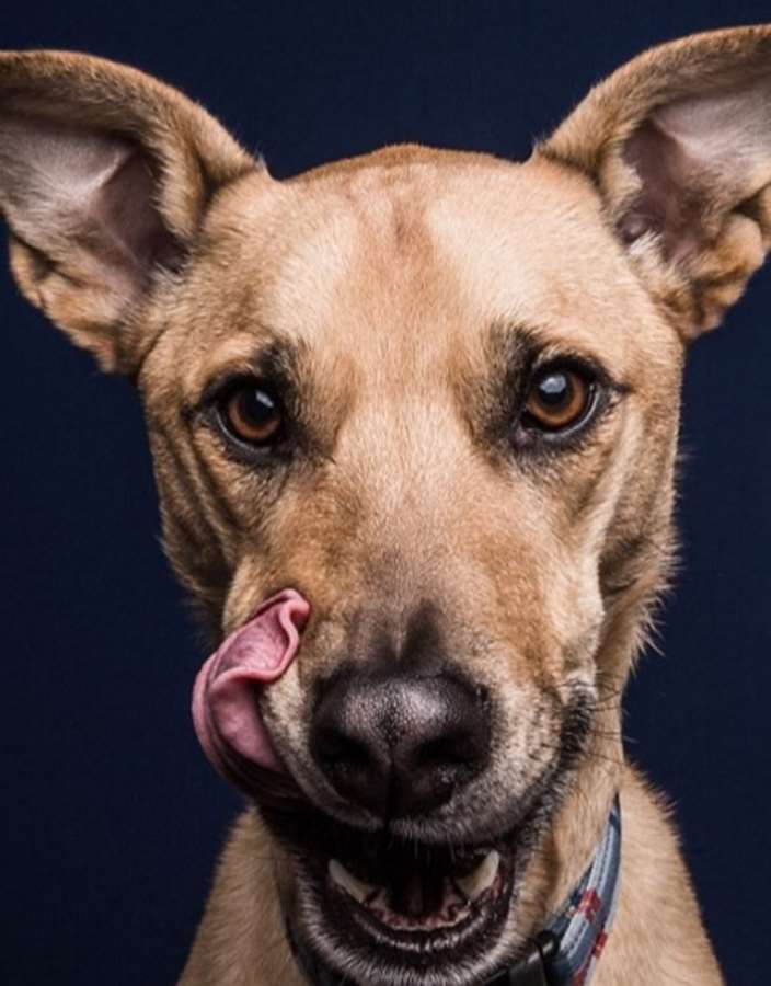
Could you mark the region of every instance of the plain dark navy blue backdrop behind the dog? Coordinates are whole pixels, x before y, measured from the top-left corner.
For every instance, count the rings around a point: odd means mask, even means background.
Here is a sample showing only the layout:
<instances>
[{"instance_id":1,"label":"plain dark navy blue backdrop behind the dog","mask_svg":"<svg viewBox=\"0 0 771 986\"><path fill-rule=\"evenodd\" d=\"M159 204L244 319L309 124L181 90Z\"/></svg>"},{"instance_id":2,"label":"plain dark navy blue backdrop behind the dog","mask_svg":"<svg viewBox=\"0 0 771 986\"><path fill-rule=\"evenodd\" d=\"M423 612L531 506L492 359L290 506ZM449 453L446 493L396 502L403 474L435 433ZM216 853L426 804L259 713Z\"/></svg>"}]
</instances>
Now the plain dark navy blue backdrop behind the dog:
<instances>
[{"instance_id":1,"label":"plain dark navy blue backdrop behind the dog","mask_svg":"<svg viewBox=\"0 0 771 986\"><path fill-rule=\"evenodd\" d=\"M280 176L398 140L525 157L642 48L770 13L768 0L71 0L5 4L0 42L157 73ZM158 546L129 385L1 278L0 983L171 984L238 806L189 722L203 654ZM766 271L692 353L683 571L625 723L672 800L730 984L768 978L770 312Z\"/></svg>"}]
</instances>

